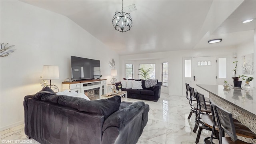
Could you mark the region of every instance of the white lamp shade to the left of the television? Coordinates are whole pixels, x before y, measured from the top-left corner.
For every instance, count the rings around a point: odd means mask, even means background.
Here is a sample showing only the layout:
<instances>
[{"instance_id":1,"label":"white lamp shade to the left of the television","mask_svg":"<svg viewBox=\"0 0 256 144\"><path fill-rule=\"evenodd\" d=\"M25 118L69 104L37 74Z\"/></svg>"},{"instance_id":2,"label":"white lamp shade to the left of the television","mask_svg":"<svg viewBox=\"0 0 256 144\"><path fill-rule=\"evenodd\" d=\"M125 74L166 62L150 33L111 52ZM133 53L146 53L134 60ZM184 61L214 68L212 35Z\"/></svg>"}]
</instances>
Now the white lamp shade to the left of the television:
<instances>
[{"instance_id":1,"label":"white lamp shade to the left of the television","mask_svg":"<svg viewBox=\"0 0 256 144\"><path fill-rule=\"evenodd\" d=\"M43 80L58 80L59 79L59 67L58 66L44 66L42 73Z\"/></svg>"}]
</instances>

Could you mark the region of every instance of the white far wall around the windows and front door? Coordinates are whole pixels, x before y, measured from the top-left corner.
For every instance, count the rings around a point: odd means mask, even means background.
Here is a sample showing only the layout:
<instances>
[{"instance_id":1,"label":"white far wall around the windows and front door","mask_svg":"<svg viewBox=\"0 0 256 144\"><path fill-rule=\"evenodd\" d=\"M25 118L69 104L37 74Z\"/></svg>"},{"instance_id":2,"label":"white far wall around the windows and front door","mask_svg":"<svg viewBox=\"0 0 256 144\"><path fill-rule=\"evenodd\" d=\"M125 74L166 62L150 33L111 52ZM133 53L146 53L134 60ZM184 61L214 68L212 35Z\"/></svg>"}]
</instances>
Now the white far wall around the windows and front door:
<instances>
[{"instance_id":1,"label":"white far wall around the windows and front door","mask_svg":"<svg viewBox=\"0 0 256 144\"><path fill-rule=\"evenodd\" d=\"M138 59L154 59L158 64L158 72L161 74L161 63L168 62L168 88L161 89L161 92L168 93L170 95L182 96L183 91L183 76L182 76L182 58L196 57L196 56L230 56L232 58L233 52L236 52L236 48L216 48L216 49L195 49L195 50L182 50L174 52L157 52L148 54L135 54L120 56L120 61L126 63L127 60L136 60L136 63L144 62L144 60ZM153 60L153 61L154 61ZM152 60L147 60L152 62ZM136 64L135 63L135 64ZM154 63L154 62L153 62ZM121 64L121 63L120 63ZM232 64L230 64L231 66ZM232 73L232 70L230 70ZM160 75L159 75L160 76ZM160 79L159 77L158 79ZM232 78L230 78L231 80Z\"/></svg>"}]
</instances>

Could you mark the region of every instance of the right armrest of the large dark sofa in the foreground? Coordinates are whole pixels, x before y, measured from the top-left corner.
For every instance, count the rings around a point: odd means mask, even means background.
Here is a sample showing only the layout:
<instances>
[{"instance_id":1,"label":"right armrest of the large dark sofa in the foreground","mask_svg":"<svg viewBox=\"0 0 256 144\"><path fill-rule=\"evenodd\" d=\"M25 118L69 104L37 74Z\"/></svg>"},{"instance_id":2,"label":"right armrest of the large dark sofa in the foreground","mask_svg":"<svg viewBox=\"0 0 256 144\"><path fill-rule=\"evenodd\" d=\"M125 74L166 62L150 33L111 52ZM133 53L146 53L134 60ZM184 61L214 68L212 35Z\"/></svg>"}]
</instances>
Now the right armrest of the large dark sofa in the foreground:
<instances>
[{"instance_id":1,"label":"right armrest of the large dark sofa in the foreground","mask_svg":"<svg viewBox=\"0 0 256 144\"><path fill-rule=\"evenodd\" d=\"M101 144L136 144L144 128L144 111L144 102L134 102L110 115L102 127Z\"/></svg>"}]
</instances>

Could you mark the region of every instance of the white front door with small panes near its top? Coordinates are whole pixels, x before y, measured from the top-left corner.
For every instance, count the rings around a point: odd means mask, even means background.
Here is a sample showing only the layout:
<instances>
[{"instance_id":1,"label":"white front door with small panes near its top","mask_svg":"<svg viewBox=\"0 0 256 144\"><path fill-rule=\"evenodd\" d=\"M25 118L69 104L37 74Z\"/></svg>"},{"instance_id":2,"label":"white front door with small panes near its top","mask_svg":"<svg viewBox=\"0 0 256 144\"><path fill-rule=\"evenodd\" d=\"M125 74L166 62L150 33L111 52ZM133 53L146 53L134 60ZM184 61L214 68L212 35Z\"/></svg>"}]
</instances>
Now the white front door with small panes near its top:
<instances>
[{"instance_id":1,"label":"white front door with small panes near its top","mask_svg":"<svg viewBox=\"0 0 256 144\"><path fill-rule=\"evenodd\" d=\"M193 87L198 92L209 97L208 92L196 86L196 84L216 85L216 56L194 57L193 58Z\"/></svg>"}]
</instances>

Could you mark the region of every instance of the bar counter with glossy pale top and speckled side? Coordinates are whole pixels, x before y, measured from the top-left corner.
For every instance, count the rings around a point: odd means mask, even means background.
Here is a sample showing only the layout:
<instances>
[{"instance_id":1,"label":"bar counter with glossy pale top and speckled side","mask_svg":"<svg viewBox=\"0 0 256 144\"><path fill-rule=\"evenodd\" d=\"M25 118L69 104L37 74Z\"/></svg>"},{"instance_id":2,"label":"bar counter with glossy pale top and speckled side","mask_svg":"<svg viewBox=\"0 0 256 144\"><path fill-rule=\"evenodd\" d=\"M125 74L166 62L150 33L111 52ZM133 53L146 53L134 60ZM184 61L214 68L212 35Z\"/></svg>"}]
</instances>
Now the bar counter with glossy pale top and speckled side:
<instances>
[{"instance_id":1,"label":"bar counter with glossy pale top and speckled side","mask_svg":"<svg viewBox=\"0 0 256 144\"><path fill-rule=\"evenodd\" d=\"M242 88L224 89L222 85L196 84L209 92L211 102L232 113L233 118L256 134L256 88L250 91ZM238 139L256 144L255 139L238 136Z\"/></svg>"}]
</instances>

